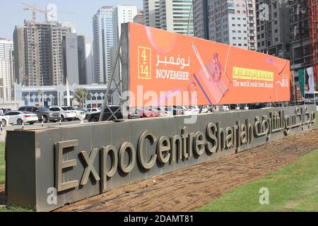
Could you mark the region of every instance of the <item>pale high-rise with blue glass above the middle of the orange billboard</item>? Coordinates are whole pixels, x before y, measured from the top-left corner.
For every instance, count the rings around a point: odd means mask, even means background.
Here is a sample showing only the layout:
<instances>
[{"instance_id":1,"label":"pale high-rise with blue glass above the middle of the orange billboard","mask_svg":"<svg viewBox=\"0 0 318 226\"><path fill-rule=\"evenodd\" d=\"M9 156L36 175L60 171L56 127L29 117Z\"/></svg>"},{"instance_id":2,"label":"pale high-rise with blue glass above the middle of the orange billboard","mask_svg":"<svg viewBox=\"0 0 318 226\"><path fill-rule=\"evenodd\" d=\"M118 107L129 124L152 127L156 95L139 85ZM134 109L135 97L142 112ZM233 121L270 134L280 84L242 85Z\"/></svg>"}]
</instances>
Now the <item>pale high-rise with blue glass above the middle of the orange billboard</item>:
<instances>
[{"instance_id":1,"label":"pale high-rise with blue glass above the middle of the orange billboard","mask_svg":"<svg viewBox=\"0 0 318 226\"><path fill-rule=\"evenodd\" d=\"M256 50L255 0L194 0L194 35Z\"/></svg>"}]
</instances>

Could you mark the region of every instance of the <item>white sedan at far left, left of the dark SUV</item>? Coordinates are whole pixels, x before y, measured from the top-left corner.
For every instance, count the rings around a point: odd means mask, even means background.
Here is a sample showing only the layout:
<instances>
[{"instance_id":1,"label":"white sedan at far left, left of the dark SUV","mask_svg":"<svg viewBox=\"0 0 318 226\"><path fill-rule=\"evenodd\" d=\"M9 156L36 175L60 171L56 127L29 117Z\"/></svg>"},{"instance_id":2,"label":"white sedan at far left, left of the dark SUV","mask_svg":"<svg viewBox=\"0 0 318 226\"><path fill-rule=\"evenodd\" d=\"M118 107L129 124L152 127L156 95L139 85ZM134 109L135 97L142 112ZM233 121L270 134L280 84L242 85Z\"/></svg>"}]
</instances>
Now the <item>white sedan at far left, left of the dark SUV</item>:
<instances>
[{"instance_id":1,"label":"white sedan at far left, left of the dark SUV","mask_svg":"<svg viewBox=\"0 0 318 226\"><path fill-rule=\"evenodd\" d=\"M36 114L24 111L8 112L5 116L8 118L8 124L22 125L23 123L28 123L32 125L39 120Z\"/></svg>"}]
</instances>

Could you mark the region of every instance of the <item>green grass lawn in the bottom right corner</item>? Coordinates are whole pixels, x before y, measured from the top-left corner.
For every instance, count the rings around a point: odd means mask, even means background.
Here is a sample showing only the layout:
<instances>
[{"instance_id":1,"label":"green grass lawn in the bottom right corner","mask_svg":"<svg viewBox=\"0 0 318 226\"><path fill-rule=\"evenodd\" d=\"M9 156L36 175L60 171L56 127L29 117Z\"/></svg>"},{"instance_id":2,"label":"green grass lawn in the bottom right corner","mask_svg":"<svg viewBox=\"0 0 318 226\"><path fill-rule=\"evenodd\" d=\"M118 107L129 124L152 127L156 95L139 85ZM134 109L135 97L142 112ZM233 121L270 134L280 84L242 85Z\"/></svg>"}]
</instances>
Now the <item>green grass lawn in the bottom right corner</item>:
<instances>
[{"instance_id":1,"label":"green grass lawn in the bottom right corner","mask_svg":"<svg viewBox=\"0 0 318 226\"><path fill-rule=\"evenodd\" d=\"M318 150L265 177L244 184L197 211L318 211ZM260 204L261 188L269 204Z\"/></svg>"}]
</instances>

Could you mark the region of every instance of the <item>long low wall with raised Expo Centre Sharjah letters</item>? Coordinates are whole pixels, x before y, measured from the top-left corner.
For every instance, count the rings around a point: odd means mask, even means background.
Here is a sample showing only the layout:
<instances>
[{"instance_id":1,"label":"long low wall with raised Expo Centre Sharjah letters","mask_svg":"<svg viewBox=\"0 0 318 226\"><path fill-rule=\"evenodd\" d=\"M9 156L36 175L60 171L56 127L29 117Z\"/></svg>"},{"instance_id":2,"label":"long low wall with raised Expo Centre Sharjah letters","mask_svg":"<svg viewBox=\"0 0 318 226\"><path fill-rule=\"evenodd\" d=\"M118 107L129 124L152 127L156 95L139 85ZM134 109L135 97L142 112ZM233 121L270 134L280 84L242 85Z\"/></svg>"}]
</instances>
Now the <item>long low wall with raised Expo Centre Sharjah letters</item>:
<instances>
[{"instance_id":1,"label":"long low wall with raised Expo Centre Sharjah letters","mask_svg":"<svg viewBox=\"0 0 318 226\"><path fill-rule=\"evenodd\" d=\"M125 184L317 128L316 106L8 131L8 202L54 210Z\"/></svg>"}]
</instances>

